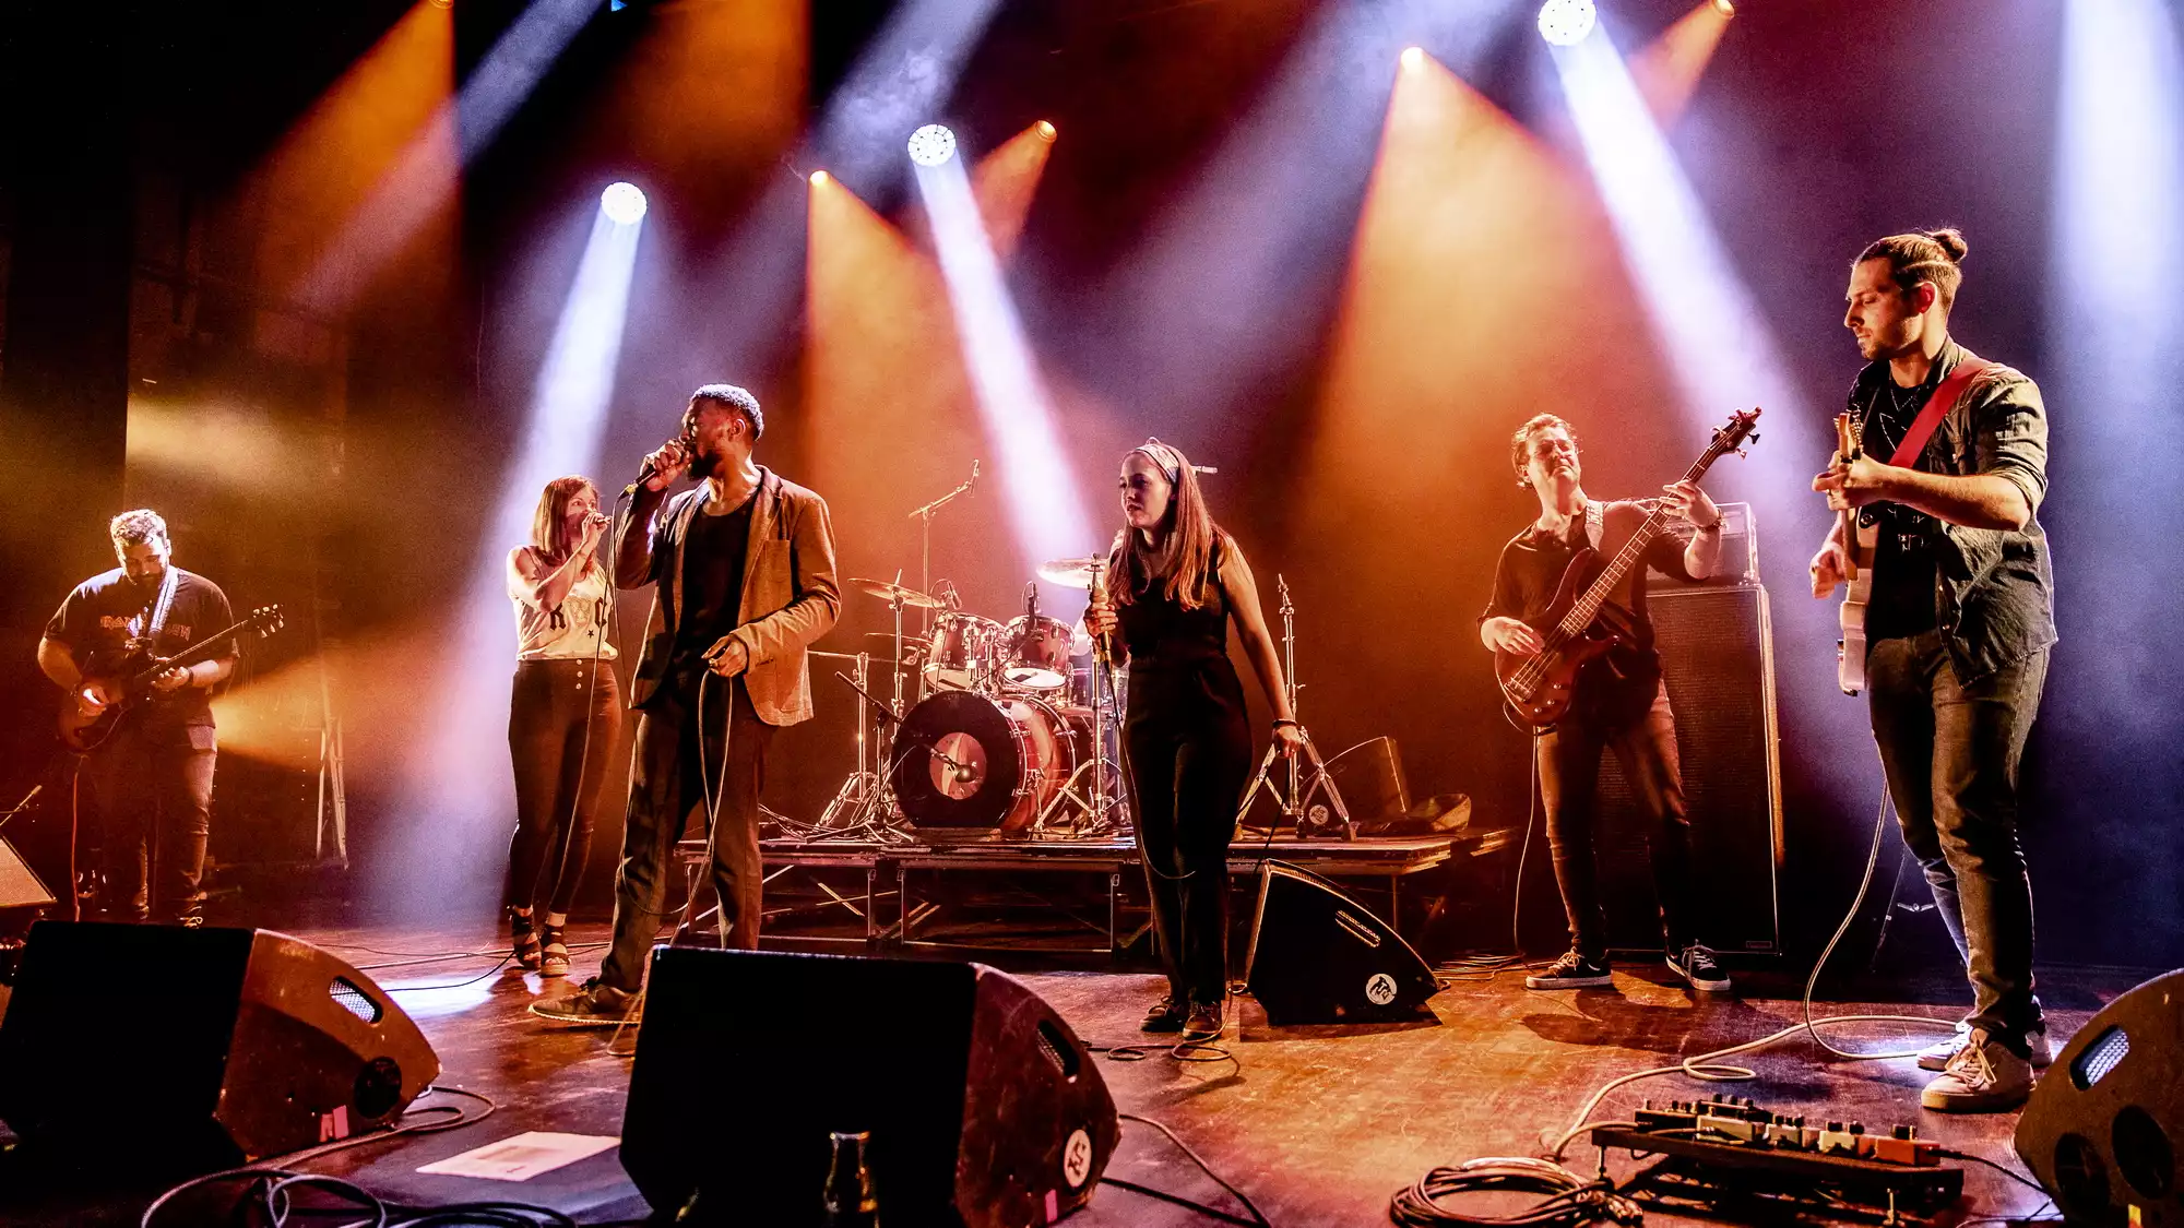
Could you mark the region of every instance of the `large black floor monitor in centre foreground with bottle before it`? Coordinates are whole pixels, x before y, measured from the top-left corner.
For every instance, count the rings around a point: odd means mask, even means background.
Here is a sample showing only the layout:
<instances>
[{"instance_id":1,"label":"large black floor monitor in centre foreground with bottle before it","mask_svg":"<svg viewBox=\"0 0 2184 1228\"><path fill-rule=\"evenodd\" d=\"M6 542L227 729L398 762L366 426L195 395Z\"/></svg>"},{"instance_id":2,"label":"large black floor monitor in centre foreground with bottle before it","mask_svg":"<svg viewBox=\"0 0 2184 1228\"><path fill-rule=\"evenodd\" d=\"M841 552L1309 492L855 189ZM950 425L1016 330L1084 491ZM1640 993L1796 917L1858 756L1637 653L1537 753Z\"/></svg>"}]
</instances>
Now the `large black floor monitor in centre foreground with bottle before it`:
<instances>
[{"instance_id":1,"label":"large black floor monitor in centre foreground with bottle before it","mask_svg":"<svg viewBox=\"0 0 2184 1228\"><path fill-rule=\"evenodd\" d=\"M1051 1224L1120 1125L1099 1064L983 964L653 950L622 1167L679 1224L821 1224L832 1134L865 1132L880 1221Z\"/></svg>"}]
</instances>

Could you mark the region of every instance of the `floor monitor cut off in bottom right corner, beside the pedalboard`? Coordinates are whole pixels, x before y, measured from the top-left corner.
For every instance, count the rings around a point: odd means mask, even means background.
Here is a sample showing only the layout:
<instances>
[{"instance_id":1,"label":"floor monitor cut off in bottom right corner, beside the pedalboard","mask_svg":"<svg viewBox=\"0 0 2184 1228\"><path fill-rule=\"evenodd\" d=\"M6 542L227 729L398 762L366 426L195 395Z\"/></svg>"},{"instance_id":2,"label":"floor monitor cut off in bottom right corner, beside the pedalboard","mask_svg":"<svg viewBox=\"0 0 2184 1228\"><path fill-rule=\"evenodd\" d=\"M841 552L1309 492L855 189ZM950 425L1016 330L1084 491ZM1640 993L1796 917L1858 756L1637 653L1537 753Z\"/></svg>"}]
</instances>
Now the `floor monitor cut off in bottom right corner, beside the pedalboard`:
<instances>
[{"instance_id":1,"label":"floor monitor cut off in bottom right corner, beside the pedalboard","mask_svg":"<svg viewBox=\"0 0 2184 1228\"><path fill-rule=\"evenodd\" d=\"M2077 1029L2033 1086L2016 1145L2070 1224L2184 1221L2184 970Z\"/></svg>"}]
</instances>

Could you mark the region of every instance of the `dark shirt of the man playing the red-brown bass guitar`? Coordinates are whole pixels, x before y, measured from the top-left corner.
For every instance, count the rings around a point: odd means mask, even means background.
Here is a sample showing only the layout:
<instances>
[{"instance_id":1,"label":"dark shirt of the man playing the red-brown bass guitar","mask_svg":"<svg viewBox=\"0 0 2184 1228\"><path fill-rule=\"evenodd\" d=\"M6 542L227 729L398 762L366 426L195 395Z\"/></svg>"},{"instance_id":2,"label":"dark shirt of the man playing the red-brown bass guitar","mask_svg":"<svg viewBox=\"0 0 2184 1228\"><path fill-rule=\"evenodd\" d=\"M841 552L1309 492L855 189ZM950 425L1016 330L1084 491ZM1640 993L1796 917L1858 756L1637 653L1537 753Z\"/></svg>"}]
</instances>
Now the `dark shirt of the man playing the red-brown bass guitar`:
<instances>
[{"instance_id":1,"label":"dark shirt of the man playing the red-brown bass guitar","mask_svg":"<svg viewBox=\"0 0 2184 1228\"><path fill-rule=\"evenodd\" d=\"M1638 500L1636 505L1618 500L1607 505L1607 516L1621 522L1634 513L1631 507L1636 507L1638 516L1649 516L1653 505L1655 500ZM1684 566L1684 548L1690 542L1688 533L1688 527L1666 527L1647 542L1645 566L1688 581L1690 570ZM1511 538L1503 546L1500 564L1494 568L1494 597L1479 621L1518 618L1531 625L1531 629L1546 634L1540 618L1555 603L1555 590L1562 586L1562 575L1570 570L1570 559L1588 544L1583 516L1572 516L1562 535L1529 527ZM1653 618L1647 616L1645 607L1645 572L1634 570L1636 575L1625 579L1625 586L1634 590L1629 607L1610 601L1601 605L1599 614L1599 621L1616 629L1623 642L1586 662L1577 673L1577 688L1570 697L1575 712L1614 719L1629 717L1642 712L1660 686Z\"/></svg>"}]
</instances>

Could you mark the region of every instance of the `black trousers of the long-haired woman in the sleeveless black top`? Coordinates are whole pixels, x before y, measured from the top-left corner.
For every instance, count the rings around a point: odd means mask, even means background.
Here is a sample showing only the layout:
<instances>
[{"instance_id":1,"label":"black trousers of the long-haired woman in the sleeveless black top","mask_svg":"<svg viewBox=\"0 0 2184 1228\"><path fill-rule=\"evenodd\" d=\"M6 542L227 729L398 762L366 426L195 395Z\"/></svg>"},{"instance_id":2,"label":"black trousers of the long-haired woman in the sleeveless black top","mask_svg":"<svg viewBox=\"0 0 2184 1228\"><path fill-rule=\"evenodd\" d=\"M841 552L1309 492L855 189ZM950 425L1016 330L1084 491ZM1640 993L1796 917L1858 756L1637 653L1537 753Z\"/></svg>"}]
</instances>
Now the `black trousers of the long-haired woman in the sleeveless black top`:
<instances>
[{"instance_id":1,"label":"black trousers of the long-haired woman in the sleeveless black top","mask_svg":"<svg viewBox=\"0 0 2184 1228\"><path fill-rule=\"evenodd\" d=\"M1123 728L1168 992L1212 1005L1227 996L1227 850L1251 778L1243 686L1225 660L1216 671L1227 677L1131 671Z\"/></svg>"}]
</instances>

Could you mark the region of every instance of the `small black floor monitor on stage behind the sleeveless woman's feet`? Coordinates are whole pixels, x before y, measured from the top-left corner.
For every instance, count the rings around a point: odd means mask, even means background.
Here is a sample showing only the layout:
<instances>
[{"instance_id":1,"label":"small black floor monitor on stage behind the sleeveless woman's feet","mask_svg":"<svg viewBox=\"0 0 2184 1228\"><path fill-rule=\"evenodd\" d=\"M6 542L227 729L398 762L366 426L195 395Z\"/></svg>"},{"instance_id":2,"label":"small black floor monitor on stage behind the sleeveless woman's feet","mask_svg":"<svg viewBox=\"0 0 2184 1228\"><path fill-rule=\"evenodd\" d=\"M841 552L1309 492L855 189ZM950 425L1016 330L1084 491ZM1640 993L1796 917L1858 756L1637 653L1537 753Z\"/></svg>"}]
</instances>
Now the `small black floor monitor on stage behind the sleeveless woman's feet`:
<instances>
[{"instance_id":1,"label":"small black floor monitor on stage behind the sleeveless woman's feet","mask_svg":"<svg viewBox=\"0 0 2184 1228\"><path fill-rule=\"evenodd\" d=\"M1267 1023L1400 1023L1433 1018L1439 990L1411 944L1334 883L1286 861L1258 872L1247 957Z\"/></svg>"}]
</instances>

